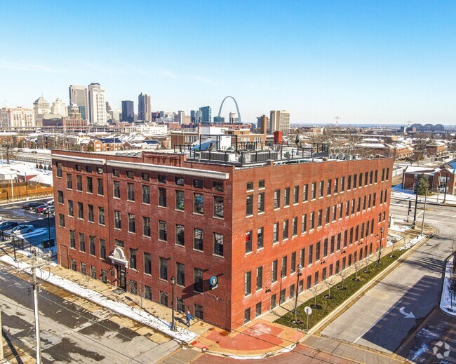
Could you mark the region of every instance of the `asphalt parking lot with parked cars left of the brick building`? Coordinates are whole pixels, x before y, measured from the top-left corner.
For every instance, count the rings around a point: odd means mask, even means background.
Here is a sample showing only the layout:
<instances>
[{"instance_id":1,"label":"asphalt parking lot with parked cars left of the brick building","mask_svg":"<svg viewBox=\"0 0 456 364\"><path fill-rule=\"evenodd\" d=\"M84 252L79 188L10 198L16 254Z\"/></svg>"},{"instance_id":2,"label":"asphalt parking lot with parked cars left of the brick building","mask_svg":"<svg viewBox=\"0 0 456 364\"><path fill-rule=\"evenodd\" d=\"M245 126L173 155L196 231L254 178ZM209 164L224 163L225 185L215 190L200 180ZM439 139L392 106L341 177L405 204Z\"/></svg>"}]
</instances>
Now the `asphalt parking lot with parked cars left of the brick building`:
<instances>
[{"instance_id":1,"label":"asphalt parking lot with parked cars left of the brick building","mask_svg":"<svg viewBox=\"0 0 456 364\"><path fill-rule=\"evenodd\" d=\"M52 197L48 197L34 201L46 203L52 199ZM31 224L35 228L48 227L48 215L36 214L22 210L22 205L25 205L25 203L27 203L27 201L0 205L0 216L3 220L15 221L18 222L18 224ZM49 224L51 227L55 227L54 215L50 215Z\"/></svg>"}]
</instances>

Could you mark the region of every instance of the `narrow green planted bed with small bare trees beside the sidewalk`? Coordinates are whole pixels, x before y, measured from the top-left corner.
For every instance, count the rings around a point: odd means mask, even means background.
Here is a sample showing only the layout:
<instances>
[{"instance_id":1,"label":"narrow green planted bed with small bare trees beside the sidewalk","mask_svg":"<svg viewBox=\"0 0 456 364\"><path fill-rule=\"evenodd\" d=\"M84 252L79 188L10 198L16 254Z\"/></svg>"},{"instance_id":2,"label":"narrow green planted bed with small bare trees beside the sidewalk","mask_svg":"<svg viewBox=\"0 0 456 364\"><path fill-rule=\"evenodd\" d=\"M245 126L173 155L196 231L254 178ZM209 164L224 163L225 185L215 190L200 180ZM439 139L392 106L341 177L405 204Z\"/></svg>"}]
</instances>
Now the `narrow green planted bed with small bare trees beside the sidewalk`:
<instances>
[{"instance_id":1,"label":"narrow green planted bed with small bare trees beside the sidewalk","mask_svg":"<svg viewBox=\"0 0 456 364\"><path fill-rule=\"evenodd\" d=\"M343 289L341 281L336 285L331 286L330 290L327 289L316 295L316 297L312 297L307 300L307 302L297 306L297 321L300 323L294 323L294 310L288 312L288 314L277 319L275 322L280 323L281 325L289 326L290 328L305 330L307 327L307 314L304 312L304 307L309 306L312 309L312 314L309 316L309 329L312 328L314 325L323 320L323 318L328 316L328 314L334 311L337 306L340 306L340 304L349 299L351 295L354 295L354 293L362 288L363 285L366 285L366 283L371 281L375 276L377 276L377 274L389 267L389 265L395 262L398 257L401 257L405 251L407 250L401 250L401 252L394 251L393 257L391 257L391 253L382 256L380 264L377 264L377 259L375 259L375 255L373 255L373 257L370 257L370 261L368 261L367 269L366 261L358 262L360 267L358 267L357 280L356 273L354 272L350 276L345 276ZM325 281L321 283L321 285L325 284ZM326 285L326 287L328 287L328 285ZM330 298L328 298L329 293Z\"/></svg>"}]
</instances>

